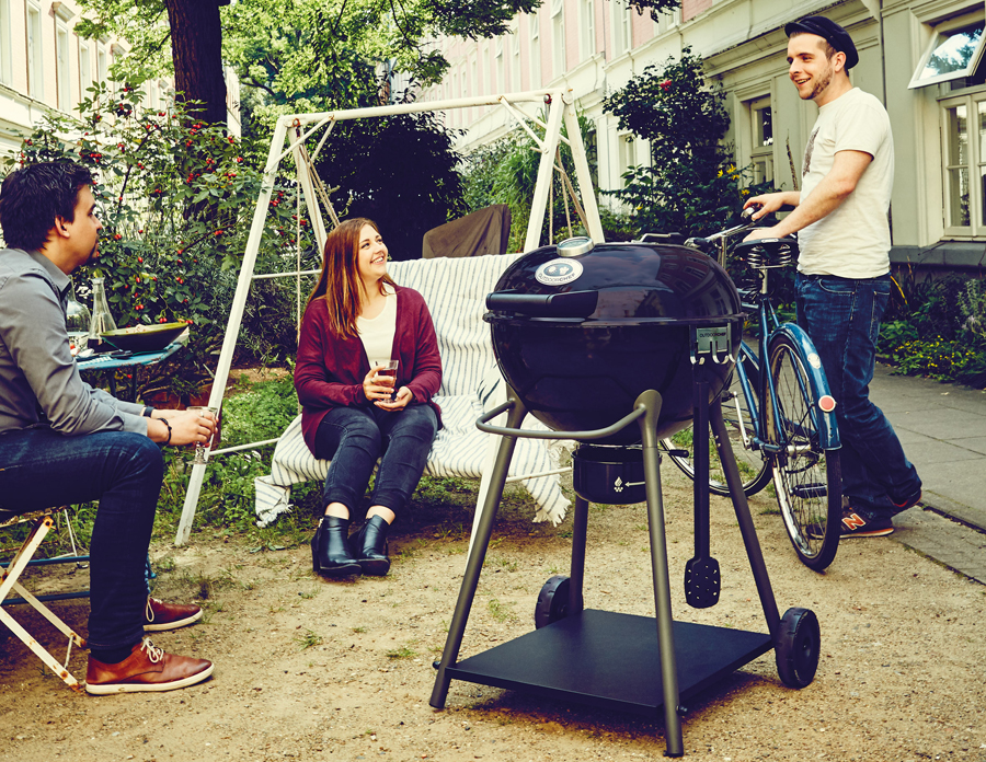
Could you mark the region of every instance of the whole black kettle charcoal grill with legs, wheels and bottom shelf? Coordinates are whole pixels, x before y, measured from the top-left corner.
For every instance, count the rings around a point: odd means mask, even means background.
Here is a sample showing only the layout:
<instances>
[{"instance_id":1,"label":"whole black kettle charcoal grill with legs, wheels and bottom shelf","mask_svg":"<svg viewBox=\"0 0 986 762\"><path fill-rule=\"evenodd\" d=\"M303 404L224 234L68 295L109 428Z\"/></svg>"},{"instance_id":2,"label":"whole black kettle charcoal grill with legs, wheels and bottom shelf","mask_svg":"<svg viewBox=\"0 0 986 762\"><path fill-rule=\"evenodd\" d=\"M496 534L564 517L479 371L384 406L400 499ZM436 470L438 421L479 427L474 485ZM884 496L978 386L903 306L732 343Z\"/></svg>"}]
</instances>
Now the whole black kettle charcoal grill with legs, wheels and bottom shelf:
<instances>
[{"instance_id":1,"label":"whole black kettle charcoal grill with legs, wheels and bottom shelf","mask_svg":"<svg viewBox=\"0 0 986 762\"><path fill-rule=\"evenodd\" d=\"M743 315L726 273L699 252L669 244L599 244L573 239L517 259L486 299L493 347L509 386L505 404L477 426L502 437L480 495L469 561L431 704L445 706L452 680L516 689L657 717L666 754L684 753L683 702L767 653L796 688L814 677L818 627L811 611L783 619L770 588L741 476L722 419ZM521 428L527 413L551 431ZM505 426L490 422L507 413ZM696 556L685 568L686 601L719 600L709 555L709 428L731 487L769 634L676 622L670 609L660 439L691 424ZM561 432L561 434L559 434ZM551 577L535 608L535 631L458 661L483 557L518 437L575 439L576 499L569 576ZM646 500L656 617L586 609L588 503Z\"/></svg>"}]
</instances>

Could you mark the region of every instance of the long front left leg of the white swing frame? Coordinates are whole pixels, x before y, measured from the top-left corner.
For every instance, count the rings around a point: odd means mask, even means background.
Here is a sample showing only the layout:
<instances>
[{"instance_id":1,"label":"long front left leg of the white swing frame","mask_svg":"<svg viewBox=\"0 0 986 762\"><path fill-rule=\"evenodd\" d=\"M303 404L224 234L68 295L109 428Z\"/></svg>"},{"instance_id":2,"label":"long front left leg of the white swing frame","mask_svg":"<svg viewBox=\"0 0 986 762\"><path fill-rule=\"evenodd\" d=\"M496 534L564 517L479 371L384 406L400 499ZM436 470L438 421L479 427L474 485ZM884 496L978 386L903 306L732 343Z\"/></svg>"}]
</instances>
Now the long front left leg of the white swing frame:
<instances>
[{"instance_id":1,"label":"long front left leg of the white swing frame","mask_svg":"<svg viewBox=\"0 0 986 762\"><path fill-rule=\"evenodd\" d=\"M250 235L246 239L246 251L243 253L243 263L240 265L240 277L237 280L237 293L233 297L232 309L229 313L229 323L226 326L226 336L222 338L222 349L219 353L219 367L216 368L216 378L213 381L213 392L209 394L209 405L218 407L222 402L226 391L226 380L229 378L229 368L232 365L233 351L237 348L237 337L240 334L240 323L243 321L243 308L246 297L250 295L250 284L253 279L253 268L256 265L256 254L260 251L261 239L264 233L264 221L267 217L267 206L271 204L271 195L274 193L274 183L277 180L277 166L280 163L280 147L284 146L284 136L287 131L287 122L282 118L274 129L271 140L271 150L267 153L267 165L264 168L264 177L261 181L261 192L256 199L256 208L253 210L253 222L250 226ZM208 463L192 466L192 477L188 481L188 492L185 493L185 505L182 507L182 518L179 522L179 531L174 538L175 545L184 545L192 533L192 522L195 520L195 509L198 507L198 494L202 490L202 482Z\"/></svg>"}]
</instances>

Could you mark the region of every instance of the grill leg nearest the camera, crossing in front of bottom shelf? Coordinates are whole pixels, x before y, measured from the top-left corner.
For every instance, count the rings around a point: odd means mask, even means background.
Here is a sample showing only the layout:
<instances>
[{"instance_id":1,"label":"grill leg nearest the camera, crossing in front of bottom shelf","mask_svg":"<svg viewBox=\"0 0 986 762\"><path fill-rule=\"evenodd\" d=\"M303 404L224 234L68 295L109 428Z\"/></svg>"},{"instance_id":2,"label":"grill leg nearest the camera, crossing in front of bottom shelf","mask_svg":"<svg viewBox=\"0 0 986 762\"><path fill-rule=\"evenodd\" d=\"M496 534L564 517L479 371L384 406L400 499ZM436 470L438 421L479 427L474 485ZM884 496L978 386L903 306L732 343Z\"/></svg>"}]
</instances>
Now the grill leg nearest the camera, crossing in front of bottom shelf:
<instances>
[{"instance_id":1,"label":"grill leg nearest the camera, crossing in front of bottom shelf","mask_svg":"<svg viewBox=\"0 0 986 762\"><path fill-rule=\"evenodd\" d=\"M657 418L661 394L650 390L637 397L635 407L646 415L640 419L643 440L644 481L647 492L647 527L651 535L651 569L654 575L654 604L657 613L657 643L661 646L661 681L664 688L665 754L681 757L681 716L678 714L678 668L675 656L674 620L670 608L670 577L667 570L667 536L664 531L664 500L661 495L661 466L657 451Z\"/></svg>"}]
</instances>

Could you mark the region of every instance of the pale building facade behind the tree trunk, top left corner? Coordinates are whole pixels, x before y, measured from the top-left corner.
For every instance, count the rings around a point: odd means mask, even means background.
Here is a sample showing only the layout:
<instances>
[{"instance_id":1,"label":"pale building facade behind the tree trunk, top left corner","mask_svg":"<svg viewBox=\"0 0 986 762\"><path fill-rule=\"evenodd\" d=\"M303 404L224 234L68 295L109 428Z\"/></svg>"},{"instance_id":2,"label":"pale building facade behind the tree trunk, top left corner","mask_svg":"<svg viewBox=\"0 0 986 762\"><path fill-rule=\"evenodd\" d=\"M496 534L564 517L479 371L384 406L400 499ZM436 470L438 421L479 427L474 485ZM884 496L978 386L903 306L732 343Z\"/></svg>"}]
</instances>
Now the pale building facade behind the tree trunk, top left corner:
<instances>
[{"instance_id":1,"label":"pale building facade behind the tree trunk, top left corner","mask_svg":"<svg viewBox=\"0 0 986 762\"><path fill-rule=\"evenodd\" d=\"M16 151L21 137L50 112L78 116L88 89L110 82L114 58L126 50L116 39L84 39L74 27L81 8L71 0L0 0L0 153ZM144 84L145 105L167 107L169 79ZM239 82L227 70L230 131L240 134Z\"/></svg>"}]
</instances>

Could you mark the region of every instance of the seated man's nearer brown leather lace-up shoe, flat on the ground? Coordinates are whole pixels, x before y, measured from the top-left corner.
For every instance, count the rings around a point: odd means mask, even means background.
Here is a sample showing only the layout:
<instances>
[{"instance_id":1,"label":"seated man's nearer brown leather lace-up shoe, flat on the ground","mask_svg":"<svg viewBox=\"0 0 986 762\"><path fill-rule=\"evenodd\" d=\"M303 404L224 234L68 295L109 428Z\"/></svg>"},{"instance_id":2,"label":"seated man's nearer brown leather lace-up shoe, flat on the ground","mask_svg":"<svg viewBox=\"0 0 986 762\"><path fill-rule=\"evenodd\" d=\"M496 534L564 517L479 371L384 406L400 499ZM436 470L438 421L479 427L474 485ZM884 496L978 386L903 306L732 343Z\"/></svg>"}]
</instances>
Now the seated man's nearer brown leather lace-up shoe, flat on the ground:
<instances>
[{"instance_id":1,"label":"seated man's nearer brown leather lace-up shoe, flat on the ground","mask_svg":"<svg viewBox=\"0 0 986 762\"><path fill-rule=\"evenodd\" d=\"M85 692L105 696L111 693L173 691L202 682L211 673L211 661L165 654L163 648L158 648L146 637L118 665L105 665L90 656Z\"/></svg>"}]
</instances>

